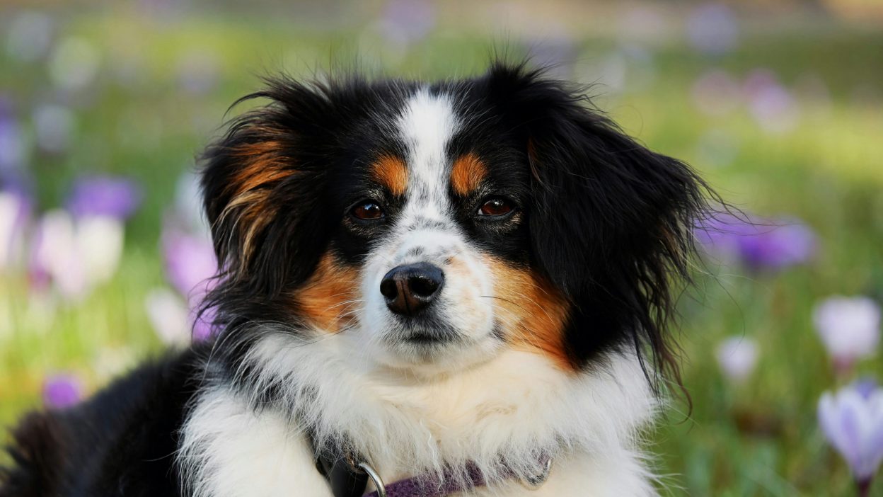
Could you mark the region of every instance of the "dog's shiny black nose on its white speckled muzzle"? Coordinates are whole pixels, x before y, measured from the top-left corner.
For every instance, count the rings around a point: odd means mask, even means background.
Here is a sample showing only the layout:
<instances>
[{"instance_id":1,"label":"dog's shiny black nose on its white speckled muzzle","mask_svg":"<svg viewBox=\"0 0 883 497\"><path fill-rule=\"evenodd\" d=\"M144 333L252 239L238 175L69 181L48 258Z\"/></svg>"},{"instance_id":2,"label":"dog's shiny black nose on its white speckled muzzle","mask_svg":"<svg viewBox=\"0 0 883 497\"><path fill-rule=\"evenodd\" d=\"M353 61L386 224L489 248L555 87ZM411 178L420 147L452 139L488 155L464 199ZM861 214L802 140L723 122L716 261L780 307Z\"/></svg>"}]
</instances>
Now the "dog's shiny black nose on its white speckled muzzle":
<instances>
[{"instance_id":1,"label":"dog's shiny black nose on its white speckled muzzle","mask_svg":"<svg viewBox=\"0 0 883 497\"><path fill-rule=\"evenodd\" d=\"M381 280L381 294L396 314L413 316L426 309L444 286L444 273L433 264L394 267Z\"/></svg>"}]
</instances>

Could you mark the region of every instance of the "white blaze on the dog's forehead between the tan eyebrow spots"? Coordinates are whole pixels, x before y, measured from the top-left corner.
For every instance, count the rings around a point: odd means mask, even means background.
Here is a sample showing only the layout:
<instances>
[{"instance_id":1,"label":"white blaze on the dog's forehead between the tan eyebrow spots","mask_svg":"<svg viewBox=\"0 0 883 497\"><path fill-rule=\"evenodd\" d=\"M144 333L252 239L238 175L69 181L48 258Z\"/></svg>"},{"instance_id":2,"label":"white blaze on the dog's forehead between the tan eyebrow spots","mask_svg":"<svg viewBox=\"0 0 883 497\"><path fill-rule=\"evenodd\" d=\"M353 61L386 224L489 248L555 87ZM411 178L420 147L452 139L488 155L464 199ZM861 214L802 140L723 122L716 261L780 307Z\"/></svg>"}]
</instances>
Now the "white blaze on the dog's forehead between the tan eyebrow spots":
<instances>
[{"instance_id":1,"label":"white blaze on the dog's forehead between the tan eyebrow spots","mask_svg":"<svg viewBox=\"0 0 883 497\"><path fill-rule=\"evenodd\" d=\"M437 218L447 206L448 157L445 148L457 131L457 116L449 96L430 95L424 88L405 104L398 121L408 147L411 199L409 209L419 206L419 215Z\"/></svg>"}]
</instances>

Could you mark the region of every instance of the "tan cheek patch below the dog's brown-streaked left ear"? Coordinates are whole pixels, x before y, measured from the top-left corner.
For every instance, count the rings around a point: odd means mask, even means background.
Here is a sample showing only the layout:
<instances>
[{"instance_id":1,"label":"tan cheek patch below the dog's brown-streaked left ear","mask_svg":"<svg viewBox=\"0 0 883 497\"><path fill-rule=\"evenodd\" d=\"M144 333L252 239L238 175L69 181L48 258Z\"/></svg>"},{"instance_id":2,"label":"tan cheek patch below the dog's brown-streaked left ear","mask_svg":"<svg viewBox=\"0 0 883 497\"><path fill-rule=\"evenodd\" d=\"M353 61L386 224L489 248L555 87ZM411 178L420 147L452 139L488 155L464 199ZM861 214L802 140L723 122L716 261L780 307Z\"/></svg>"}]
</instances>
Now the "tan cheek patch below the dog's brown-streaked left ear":
<instances>
[{"instance_id":1,"label":"tan cheek patch below the dog's brown-streaked left ear","mask_svg":"<svg viewBox=\"0 0 883 497\"><path fill-rule=\"evenodd\" d=\"M343 266L330 254L322 256L313 276L294 295L304 317L327 333L335 333L355 319L352 310L357 299L358 271Z\"/></svg>"}]
</instances>

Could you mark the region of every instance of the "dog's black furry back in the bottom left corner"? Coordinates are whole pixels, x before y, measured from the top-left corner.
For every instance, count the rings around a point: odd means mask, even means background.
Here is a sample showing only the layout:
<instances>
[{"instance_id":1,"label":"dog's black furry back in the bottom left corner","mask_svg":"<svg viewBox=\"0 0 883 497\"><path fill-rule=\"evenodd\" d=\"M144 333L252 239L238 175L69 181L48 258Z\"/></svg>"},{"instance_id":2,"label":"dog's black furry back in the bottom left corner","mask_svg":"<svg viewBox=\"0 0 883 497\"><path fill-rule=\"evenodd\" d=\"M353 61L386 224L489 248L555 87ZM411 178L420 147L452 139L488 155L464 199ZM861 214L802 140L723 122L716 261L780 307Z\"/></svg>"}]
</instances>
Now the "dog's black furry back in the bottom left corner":
<instances>
[{"instance_id":1,"label":"dog's black furry back in the bottom left corner","mask_svg":"<svg viewBox=\"0 0 883 497\"><path fill-rule=\"evenodd\" d=\"M201 349L145 363L72 409L28 415L0 497L179 495L173 456Z\"/></svg>"}]
</instances>

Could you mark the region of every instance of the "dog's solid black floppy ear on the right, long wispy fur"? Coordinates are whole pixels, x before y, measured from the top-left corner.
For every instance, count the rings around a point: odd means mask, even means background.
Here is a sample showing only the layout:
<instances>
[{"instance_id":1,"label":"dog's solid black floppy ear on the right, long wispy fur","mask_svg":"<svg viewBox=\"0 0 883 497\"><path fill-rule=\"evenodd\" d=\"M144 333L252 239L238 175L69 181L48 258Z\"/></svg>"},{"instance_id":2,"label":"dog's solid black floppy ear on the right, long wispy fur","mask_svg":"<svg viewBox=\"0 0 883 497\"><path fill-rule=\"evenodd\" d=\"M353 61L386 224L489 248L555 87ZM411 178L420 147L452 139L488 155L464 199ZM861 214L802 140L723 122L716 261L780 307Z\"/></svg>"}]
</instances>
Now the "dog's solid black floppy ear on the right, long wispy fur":
<instances>
[{"instance_id":1,"label":"dog's solid black floppy ear on the right, long wispy fur","mask_svg":"<svg viewBox=\"0 0 883 497\"><path fill-rule=\"evenodd\" d=\"M576 305L575 353L650 346L678 376L663 328L673 273L688 279L693 219L706 186L689 166L654 153L587 107L565 83L523 66L495 66L487 94L517 123L532 173L532 264Z\"/></svg>"}]
</instances>

